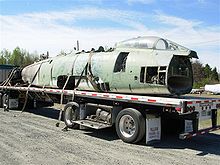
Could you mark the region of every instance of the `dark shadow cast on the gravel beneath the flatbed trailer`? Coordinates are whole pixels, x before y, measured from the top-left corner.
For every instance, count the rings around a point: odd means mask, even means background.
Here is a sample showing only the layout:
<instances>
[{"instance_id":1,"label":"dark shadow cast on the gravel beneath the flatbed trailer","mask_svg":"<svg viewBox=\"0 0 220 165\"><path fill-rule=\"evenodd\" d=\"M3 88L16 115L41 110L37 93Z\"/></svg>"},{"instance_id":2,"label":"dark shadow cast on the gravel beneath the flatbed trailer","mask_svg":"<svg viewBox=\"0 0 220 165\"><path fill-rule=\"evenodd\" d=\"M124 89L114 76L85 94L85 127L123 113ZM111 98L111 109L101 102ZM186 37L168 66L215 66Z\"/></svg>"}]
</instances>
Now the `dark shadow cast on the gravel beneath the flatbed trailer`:
<instances>
[{"instance_id":1,"label":"dark shadow cast on the gravel beneath the flatbed trailer","mask_svg":"<svg viewBox=\"0 0 220 165\"><path fill-rule=\"evenodd\" d=\"M56 120L59 117L59 110L51 107L40 108L40 109L29 109L26 112L30 112L36 115L40 115ZM71 129L68 130L71 131ZM82 131L84 131L84 134L88 136L104 139L107 141L113 141L119 139L114 127L106 128L102 130L87 129ZM145 137L137 145L146 146ZM163 135L162 141L148 146L152 146L153 148L160 148L160 149L192 149L195 151L200 151L200 153L197 154L198 156L204 156L207 154L220 155L220 135L209 133L188 140L180 140L175 135L165 134Z\"/></svg>"}]
</instances>

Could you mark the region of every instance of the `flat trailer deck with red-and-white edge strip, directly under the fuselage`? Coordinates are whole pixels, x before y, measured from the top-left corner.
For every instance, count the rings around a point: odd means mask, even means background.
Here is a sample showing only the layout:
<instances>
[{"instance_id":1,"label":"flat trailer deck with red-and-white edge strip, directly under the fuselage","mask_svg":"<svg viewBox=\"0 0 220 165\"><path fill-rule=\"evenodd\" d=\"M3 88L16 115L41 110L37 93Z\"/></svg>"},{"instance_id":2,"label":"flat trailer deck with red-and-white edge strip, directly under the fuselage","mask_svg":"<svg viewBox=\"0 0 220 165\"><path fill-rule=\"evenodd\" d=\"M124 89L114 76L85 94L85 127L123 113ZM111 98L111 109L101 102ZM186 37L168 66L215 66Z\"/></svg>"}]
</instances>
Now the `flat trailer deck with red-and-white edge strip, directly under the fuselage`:
<instances>
[{"instance_id":1,"label":"flat trailer deck with red-and-white edge strip, directly under the fuselage","mask_svg":"<svg viewBox=\"0 0 220 165\"><path fill-rule=\"evenodd\" d=\"M192 96L145 96L145 95L131 95L131 94L116 94L116 93L103 93L93 91L78 91L78 90L62 90L52 88L39 88L39 87L15 87L15 86L0 86L1 90L16 90L16 91L29 91L41 92L48 94L57 94L72 97L92 98L101 100L111 100L130 103L141 103L146 105L155 105L163 107L174 107L180 114L191 112L198 109L216 109L220 108L219 98L202 98ZM186 111L186 107L193 107Z\"/></svg>"}]
</instances>

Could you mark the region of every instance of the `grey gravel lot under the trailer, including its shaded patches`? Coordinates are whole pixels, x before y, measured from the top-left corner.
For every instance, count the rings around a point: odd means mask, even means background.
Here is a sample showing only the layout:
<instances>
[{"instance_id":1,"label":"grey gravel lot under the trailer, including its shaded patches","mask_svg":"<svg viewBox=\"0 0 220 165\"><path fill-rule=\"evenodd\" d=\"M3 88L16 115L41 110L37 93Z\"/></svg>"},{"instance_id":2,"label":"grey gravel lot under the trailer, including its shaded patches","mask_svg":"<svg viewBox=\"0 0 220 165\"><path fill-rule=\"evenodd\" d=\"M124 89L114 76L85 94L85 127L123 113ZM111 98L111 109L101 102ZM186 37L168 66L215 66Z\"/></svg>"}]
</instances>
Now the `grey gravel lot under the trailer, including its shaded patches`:
<instances>
[{"instance_id":1,"label":"grey gravel lot under the trailer, including its shaded patches","mask_svg":"<svg viewBox=\"0 0 220 165\"><path fill-rule=\"evenodd\" d=\"M58 111L0 109L0 164L210 164L220 162L220 131L178 140L167 136L147 146L118 139L114 129L69 130L55 127Z\"/></svg>"}]
</instances>

